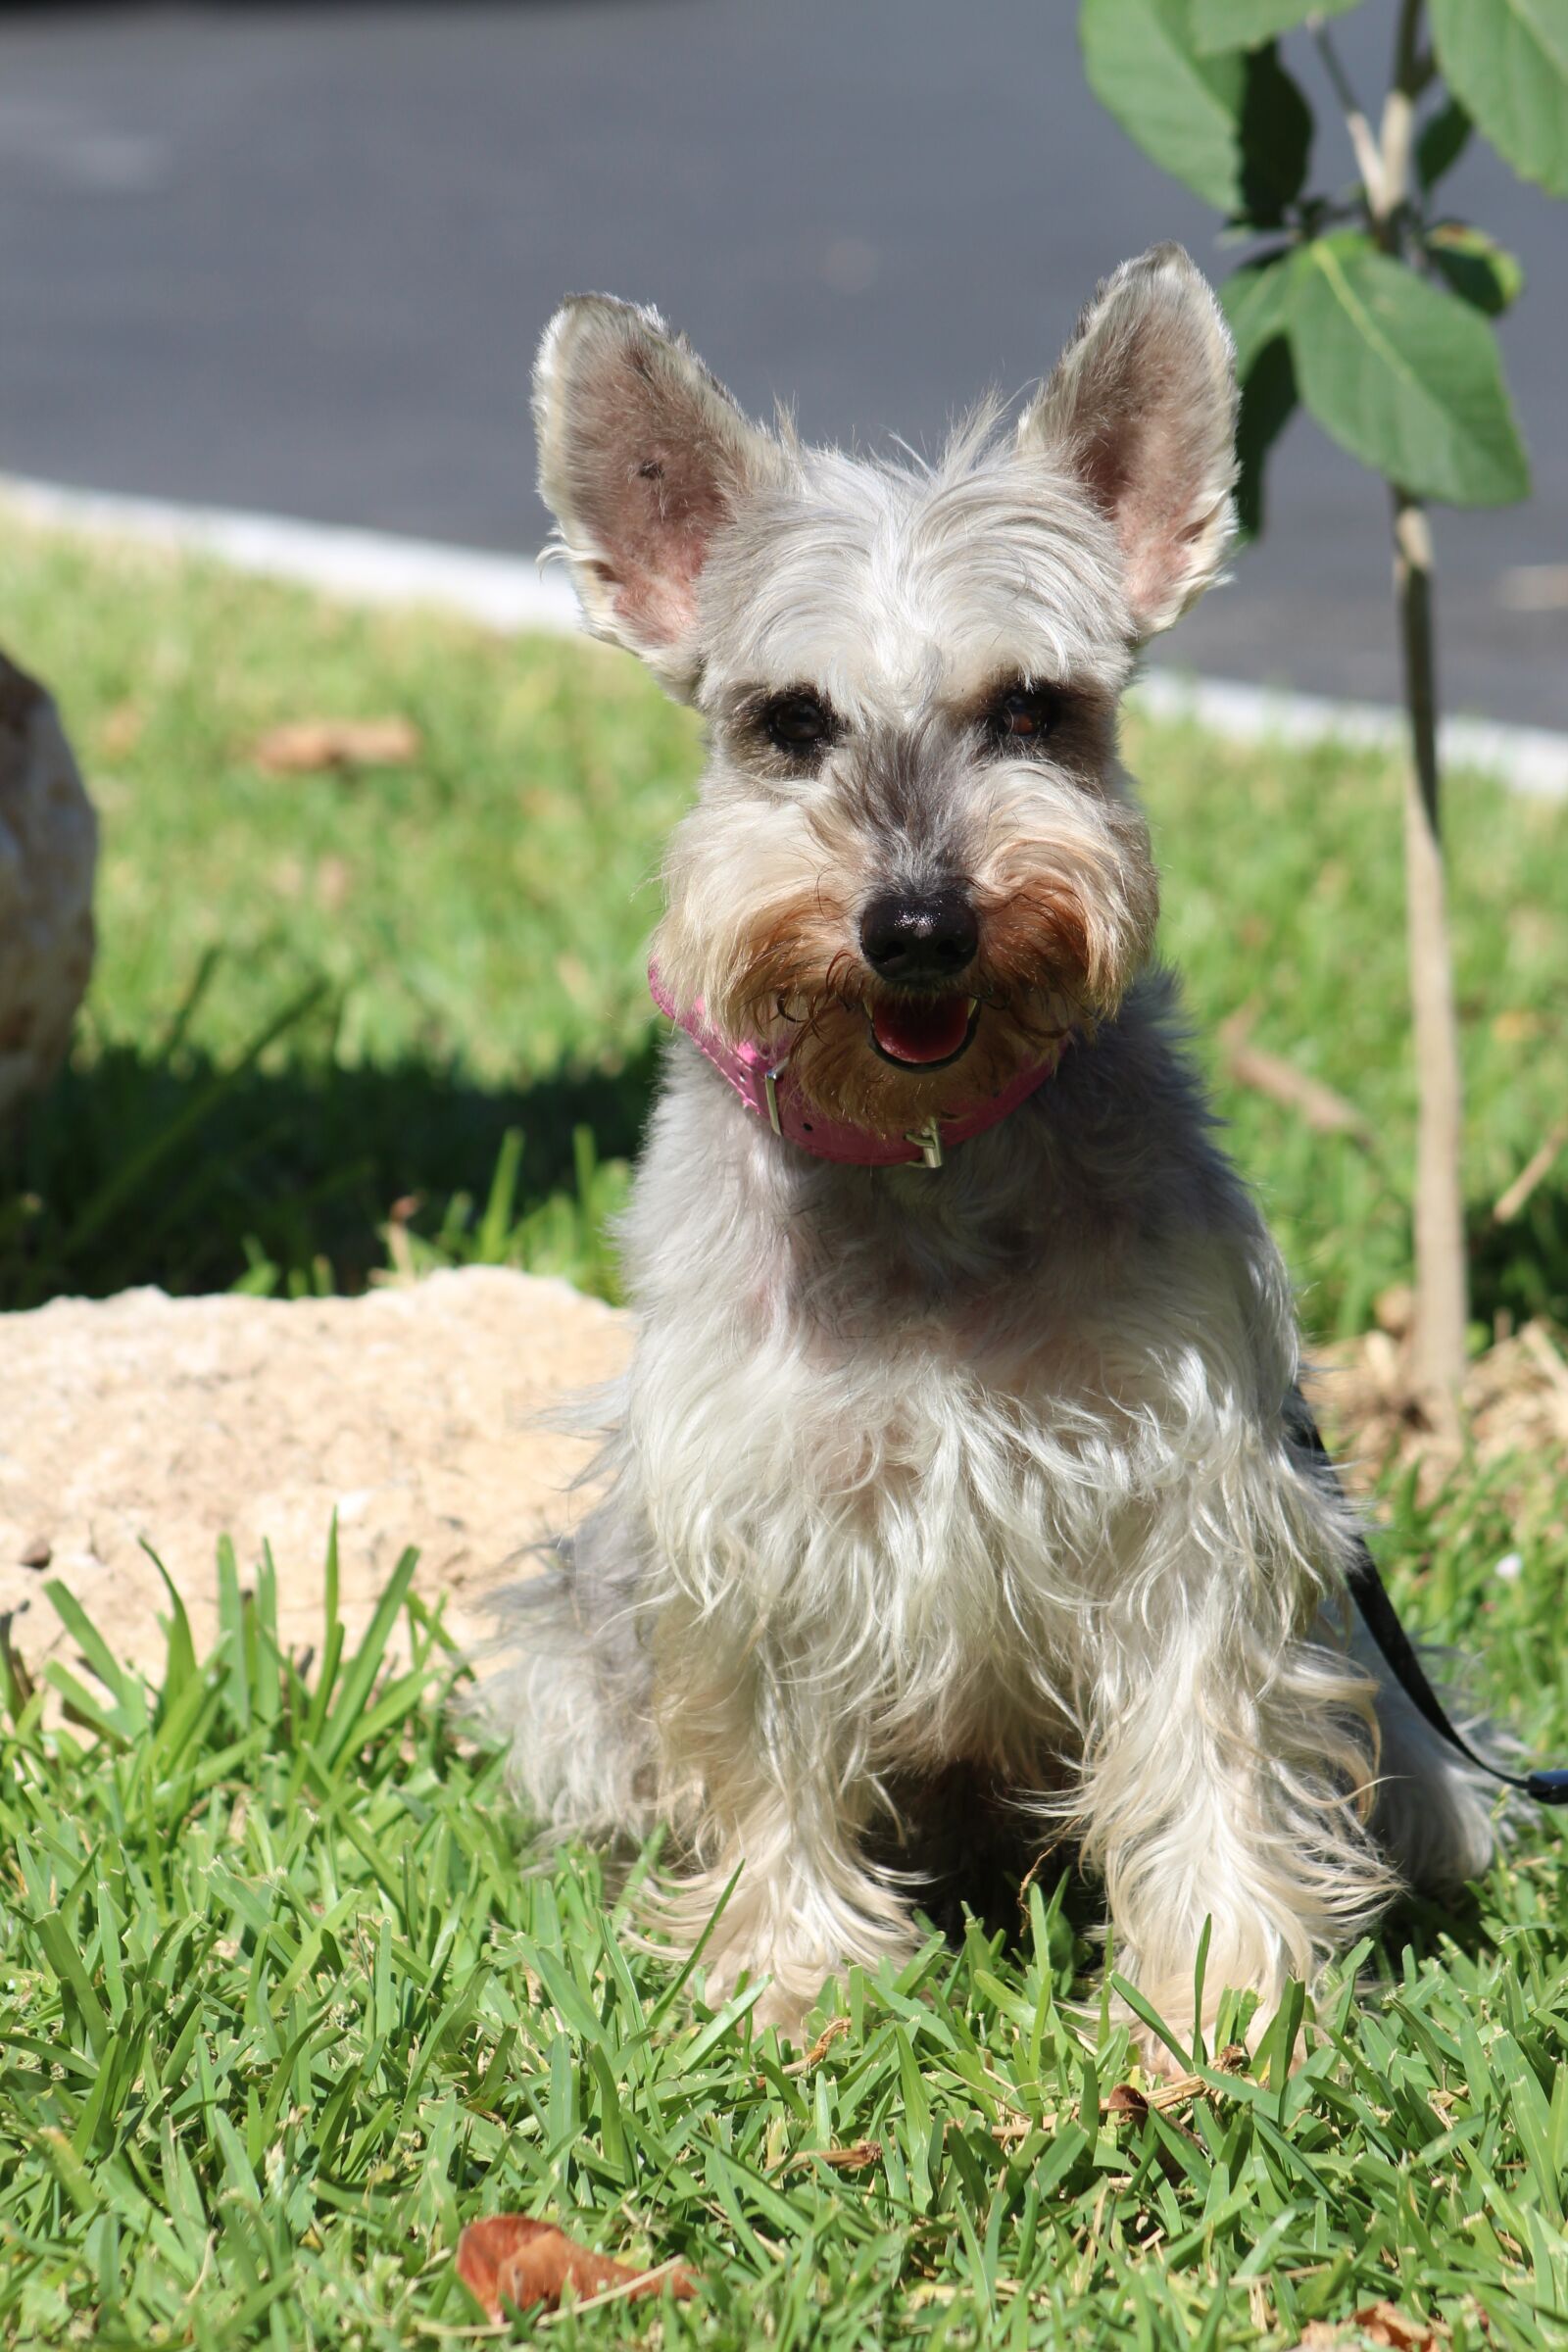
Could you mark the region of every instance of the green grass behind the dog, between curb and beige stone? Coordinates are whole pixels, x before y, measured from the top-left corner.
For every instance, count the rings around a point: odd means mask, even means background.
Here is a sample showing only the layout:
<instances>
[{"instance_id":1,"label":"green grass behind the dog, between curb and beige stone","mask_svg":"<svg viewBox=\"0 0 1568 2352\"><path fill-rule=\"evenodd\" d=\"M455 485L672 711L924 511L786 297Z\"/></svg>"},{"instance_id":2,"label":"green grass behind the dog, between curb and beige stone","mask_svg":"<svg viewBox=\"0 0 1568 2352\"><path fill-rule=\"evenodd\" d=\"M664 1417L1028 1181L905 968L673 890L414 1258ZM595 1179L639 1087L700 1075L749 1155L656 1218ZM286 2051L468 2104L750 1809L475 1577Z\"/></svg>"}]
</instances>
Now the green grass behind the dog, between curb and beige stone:
<instances>
[{"instance_id":1,"label":"green grass behind the dog, between curb and beige stone","mask_svg":"<svg viewBox=\"0 0 1568 2352\"><path fill-rule=\"evenodd\" d=\"M56 684L103 811L103 948L73 1068L0 1164L0 1303L355 1289L390 1223L416 1263L614 1289L686 717L595 647L14 529L5 555L0 642ZM303 779L247 757L320 715L404 715L423 757ZM1199 1035L1253 1007L1258 1044L1373 1127L1361 1150L1220 1087L1309 1324L1361 1329L1410 1254L1396 776L1140 722L1128 755ZM1568 1089L1568 804L1455 779L1450 842L1476 1310L1568 1317L1563 1181L1488 1225Z\"/></svg>"}]
</instances>

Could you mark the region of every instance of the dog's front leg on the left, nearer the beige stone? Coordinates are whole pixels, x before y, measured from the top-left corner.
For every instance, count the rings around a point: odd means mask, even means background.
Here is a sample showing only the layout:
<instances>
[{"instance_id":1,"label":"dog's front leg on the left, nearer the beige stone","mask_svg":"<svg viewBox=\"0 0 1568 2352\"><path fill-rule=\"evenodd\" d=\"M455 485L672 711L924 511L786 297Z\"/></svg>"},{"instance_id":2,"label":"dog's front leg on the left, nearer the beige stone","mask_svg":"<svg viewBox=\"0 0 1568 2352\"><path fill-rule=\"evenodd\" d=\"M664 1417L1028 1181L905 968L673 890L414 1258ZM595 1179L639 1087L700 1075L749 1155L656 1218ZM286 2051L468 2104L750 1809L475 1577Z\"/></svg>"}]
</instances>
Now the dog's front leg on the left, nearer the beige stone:
<instances>
[{"instance_id":1,"label":"dog's front leg on the left, nearer the beige stone","mask_svg":"<svg viewBox=\"0 0 1568 2352\"><path fill-rule=\"evenodd\" d=\"M686 1649L679 1698L665 1684L661 1731L672 1778L696 1818L696 1867L663 1891L658 1915L686 1950L705 1943L708 1994L741 1973L769 1978L757 2020L799 2030L825 1978L914 1947L910 1912L867 1860L872 1783L846 1752L844 1726L809 1679L752 1658L733 1679L696 1686ZM731 1884L733 1882L733 1884ZM729 1896L726 1896L729 1891Z\"/></svg>"}]
</instances>

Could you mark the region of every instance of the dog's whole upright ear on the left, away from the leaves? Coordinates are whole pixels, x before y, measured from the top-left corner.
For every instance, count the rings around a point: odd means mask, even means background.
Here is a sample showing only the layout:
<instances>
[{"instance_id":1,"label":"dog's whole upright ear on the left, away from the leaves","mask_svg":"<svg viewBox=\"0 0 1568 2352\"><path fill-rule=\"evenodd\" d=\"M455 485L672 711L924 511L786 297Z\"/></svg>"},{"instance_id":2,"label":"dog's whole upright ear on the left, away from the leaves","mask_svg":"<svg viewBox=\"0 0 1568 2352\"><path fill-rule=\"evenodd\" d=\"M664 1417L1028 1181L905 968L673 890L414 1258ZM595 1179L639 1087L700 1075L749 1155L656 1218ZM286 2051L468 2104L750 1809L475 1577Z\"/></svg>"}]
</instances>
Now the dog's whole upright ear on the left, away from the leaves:
<instances>
[{"instance_id":1,"label":"dog's whole upright ear on the left, away from the leaves","mask_svg":"<svg viewBox=\"0 0 1568 2352\"><path fill-rule=\"evenodd\" d=\"M658 310L569 296L534 365L538 492L588 626L682 694L696 586L719 532L783 452Z\"/></svg>"}]
</instances>

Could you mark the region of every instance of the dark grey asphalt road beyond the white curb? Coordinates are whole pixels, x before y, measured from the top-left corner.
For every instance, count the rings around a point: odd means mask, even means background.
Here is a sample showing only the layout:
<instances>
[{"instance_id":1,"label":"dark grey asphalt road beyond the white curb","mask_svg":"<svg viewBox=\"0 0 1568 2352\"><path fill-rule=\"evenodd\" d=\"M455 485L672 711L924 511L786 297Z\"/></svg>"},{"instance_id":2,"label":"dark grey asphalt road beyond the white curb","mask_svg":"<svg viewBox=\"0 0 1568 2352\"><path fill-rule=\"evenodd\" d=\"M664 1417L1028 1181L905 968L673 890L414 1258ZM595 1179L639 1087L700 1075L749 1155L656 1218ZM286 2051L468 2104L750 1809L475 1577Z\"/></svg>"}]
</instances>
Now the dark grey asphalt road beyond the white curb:
<instances>
[{"instance_id":1,"label":"dark grey asphalt road beyond the white curb","mask_svg":"<svg viewBox=\"0 0 1568 2352\"><path fill-rule=\"evenodd\" d=\"M1389 16L1349 19L1368 87ZM0 5L0 468L531 550L527 367L569 287L658 301L809 435L931 442L985 383L1048 367L1124 254L1180 235L1227 266L1213 216L1088 96L1072 19ZM1321 136L1349 176L1338 122ZM1446 689L1568 727L1547 569L1568 564L1568 209L1483 153L1450 186L1530 275L1505 348L1535 496L1439 515ZM1396 691L1382 496L1309 423L1265 546L1164 656Z\"/></svg>"}]
</instances>

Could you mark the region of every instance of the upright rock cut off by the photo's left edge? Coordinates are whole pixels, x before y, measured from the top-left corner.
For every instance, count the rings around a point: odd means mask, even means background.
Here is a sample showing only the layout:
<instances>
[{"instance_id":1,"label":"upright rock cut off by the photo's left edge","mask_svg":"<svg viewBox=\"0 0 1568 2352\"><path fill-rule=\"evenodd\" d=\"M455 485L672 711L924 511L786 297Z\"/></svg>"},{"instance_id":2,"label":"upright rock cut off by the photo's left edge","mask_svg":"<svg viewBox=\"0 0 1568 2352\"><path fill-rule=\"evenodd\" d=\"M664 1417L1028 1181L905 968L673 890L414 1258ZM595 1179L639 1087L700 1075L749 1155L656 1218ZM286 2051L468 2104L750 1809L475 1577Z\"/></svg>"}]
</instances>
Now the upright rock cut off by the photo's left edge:
<instances>
[{"instance_id":1,"label":"upright rock cut off by the photo's left edge","mask_svg":"<svg viewBox=\"0 0 1568 2352\"><path fill-rule=\"evenodd\" d=\"M0 654L0 1120L59 1068L92 971L99 828L59 713Z\"/></svg>"}]
</instances>

